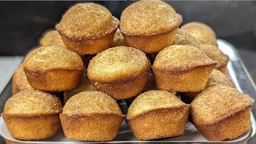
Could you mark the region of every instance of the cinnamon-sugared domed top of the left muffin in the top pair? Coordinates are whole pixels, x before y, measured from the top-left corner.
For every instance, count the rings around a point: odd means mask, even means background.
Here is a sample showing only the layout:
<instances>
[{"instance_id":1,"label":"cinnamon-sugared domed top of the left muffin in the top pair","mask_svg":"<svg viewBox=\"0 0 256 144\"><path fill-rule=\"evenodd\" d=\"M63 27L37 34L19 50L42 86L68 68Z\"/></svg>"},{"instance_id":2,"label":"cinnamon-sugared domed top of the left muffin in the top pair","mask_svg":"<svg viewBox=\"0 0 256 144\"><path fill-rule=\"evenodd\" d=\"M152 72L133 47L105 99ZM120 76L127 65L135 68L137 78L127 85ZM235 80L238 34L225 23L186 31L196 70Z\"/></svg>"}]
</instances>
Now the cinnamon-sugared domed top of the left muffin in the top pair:
<instances>
[{"instance_id":1,"label":"cinnamon-sugared domed top of the left muffin in the top pair","mask_svg":"<svg viewBox=\"0 0 256 144\"><path fill-rule=\"evenodd\" d=\"M98 37L113 26L114 18L104 6L95 3L78 3L62 16L56 29L68 37Z\"/></svg>"}]
</instances>

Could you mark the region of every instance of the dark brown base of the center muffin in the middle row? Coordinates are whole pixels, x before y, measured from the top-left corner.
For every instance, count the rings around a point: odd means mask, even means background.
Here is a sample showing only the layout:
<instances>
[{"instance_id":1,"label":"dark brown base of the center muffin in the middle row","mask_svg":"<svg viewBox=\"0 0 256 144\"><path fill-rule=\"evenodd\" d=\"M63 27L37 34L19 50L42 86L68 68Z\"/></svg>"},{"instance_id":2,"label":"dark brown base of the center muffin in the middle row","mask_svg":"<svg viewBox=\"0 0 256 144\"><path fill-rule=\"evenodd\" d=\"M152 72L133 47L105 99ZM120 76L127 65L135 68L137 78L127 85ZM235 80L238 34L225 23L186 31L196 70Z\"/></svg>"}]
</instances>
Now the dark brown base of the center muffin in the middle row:
<instances>
[{"instance_id":1,"label":"dark brown base of the center muffin in the middle row","mask_svg":"<svg viewBox=\"0 0 256 144\"><path fill-rule=\"evenodd\" d=\"M126 81L118 81L118 82L94 82L91 81L95 86L96 90L100 90L106 94L109 94L112 98L119 99L127 99L132 98L138 94L140 94L144 87L146 86L148 73L144 73L139 75L135 79L130 79Z\"/></svg>"}]
</instances>

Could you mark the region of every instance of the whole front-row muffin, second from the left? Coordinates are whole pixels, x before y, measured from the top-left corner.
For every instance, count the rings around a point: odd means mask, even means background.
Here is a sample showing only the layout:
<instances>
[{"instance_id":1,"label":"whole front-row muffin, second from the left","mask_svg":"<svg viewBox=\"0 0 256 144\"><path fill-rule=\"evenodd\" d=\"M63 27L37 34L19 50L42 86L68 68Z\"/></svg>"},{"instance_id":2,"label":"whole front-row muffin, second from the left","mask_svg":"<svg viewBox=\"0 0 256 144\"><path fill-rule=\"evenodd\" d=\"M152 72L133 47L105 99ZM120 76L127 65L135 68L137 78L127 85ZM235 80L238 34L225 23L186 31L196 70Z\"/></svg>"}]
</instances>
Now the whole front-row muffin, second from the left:
<instances>
[{"instance_id":1,"label":"whole front-row muffin, second from the left","mask_svg":"<svg viewBox=\"0 0 256 144\"><path fill-rule=\"evenodd\" d=\"M118 103L99 91L84 91L71 97L60 114L66 138L75 141L111 141L124 116Z\"/></svg>"}]
</instances>

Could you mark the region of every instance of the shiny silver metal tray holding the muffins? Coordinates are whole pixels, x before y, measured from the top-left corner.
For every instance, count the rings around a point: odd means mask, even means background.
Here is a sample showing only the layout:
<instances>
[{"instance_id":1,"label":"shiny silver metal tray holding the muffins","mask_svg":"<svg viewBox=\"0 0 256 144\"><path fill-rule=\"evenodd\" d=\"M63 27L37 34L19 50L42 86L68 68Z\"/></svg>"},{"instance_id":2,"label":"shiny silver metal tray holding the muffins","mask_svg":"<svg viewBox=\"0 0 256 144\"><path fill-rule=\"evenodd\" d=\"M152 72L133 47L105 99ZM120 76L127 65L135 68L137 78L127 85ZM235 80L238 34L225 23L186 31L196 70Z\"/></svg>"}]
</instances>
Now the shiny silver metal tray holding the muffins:
<instances>
[{"instance_id":1,"label":"shiny silver metal tray holding the muffins","mask_svg":"<svg viewBox=\"0 0 256 144\"><path fill-rule=\"evenodd\" d=\"M237 50L235 50L234 46L232 46L229 42L224 40L218 39L218 46L223 51L223 53L227 54L230 57L230 62L227 65L227 69L230 74L230 78L233 80L235 86L238 90L242 91L242 93L249 94L254 99L256 96L256 86L254 82L250 78L250 74L248 74L245 66L243 65L241 59L238 56ZM2 91L0 95L0 110L2 113L2 109L6 99L11 96L11 82L9 82L6 88ZM122 110L126 110L126 102L121 101L119 105L122 107ZM255 138L255 130L256 130L256 123L255 123L255 115L256 109L253 106L253 112L251 113L251 129L248 130L242 136L235 138L230 141L224 141L221 143L256 143ZM82 142L71 142L67 138L65 138L62 130L59 130L58 134L54 136L54 138L50 138L44 141L19 141L13 137L11 137L9 131L7 130L6 124L2 118L0 118L0 134L2 138L5 138L9 142L21 142L21 143L82 143ZM158 140L152 141L137 141L134 138L129 126L126 124L125 121L122 122L122 126L118 132L117 138L114 141L107 142L107 143L137 143L137 142L150 142L150 143L162 143L162 142L178 142L178 143L209 143L213 141L207 141L206 138L203 138L202 135L198 132L198 130L190 123L186 123L186 132L182 136L178 136L175 138L162 138ZM91 142L91 143L100 143L100 142ZM105 143L105 142L104 142Z\"/></svg>"}]
</instances>

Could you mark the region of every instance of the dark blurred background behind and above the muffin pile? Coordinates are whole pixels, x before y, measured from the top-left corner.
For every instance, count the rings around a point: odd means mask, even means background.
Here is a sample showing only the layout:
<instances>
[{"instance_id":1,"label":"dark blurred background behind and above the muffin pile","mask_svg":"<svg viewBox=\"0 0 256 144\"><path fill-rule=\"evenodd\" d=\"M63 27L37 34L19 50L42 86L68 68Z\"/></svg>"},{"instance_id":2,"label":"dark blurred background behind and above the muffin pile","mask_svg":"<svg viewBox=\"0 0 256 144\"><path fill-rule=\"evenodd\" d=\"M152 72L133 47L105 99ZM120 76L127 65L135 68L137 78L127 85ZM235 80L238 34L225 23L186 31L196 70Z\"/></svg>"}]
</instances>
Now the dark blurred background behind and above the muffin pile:
<instances>
[{"instance_id":1,"label":"dark blurred background behind and above the muffin pile","mask_svg":"<svg viewBox=\"0 0 256 144\"><path fill-rule=\"evenodd\" d=\"M134 1L97 2L120 18ZM256 2L253 1L167 1L182 14L182 24L205 22L218 38L231 42L256 79ZM62 14L76 2L0 2L0 56L24 55L38 38L54 28Z\"/></svg>"}]
</instances>

